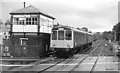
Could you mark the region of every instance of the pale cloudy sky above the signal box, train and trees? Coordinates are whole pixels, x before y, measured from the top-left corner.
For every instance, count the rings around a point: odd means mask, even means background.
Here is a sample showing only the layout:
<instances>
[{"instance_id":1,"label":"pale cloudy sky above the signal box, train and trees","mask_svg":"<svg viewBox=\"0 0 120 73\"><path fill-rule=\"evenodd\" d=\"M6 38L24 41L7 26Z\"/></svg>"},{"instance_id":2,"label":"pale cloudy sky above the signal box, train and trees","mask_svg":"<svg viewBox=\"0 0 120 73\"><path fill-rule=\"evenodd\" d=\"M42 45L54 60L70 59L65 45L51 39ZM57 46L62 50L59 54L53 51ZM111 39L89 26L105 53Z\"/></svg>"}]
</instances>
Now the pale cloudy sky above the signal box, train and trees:
<instances>
[{"instance_id":1,"label":"pale cloudy sky above the signal box, train and trees","mask_svg":"<svg viewBox=\"0 0 120 73\"><path fill-rule=\"evenodd\" d=\"M119 0L0 0L0 19L10 19L10 12L33 5L54 16L55 23L92 32L111 31L118 23Z\"/></svg>"}]
</instances>

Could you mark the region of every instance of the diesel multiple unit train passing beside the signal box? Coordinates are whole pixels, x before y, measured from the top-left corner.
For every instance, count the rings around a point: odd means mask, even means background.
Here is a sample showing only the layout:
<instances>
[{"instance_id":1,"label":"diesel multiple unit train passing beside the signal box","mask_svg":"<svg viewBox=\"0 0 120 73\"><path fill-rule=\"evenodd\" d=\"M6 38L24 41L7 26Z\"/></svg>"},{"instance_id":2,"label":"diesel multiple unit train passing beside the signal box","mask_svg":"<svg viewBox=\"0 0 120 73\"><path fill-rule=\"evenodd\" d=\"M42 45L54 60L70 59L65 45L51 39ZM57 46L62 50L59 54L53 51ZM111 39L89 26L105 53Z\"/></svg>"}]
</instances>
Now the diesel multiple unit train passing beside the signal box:
<instances>
[{"instance_id":1,"label":"diesel multiple unit train passing beside the signal box","mask_svg":"<svg viewBox=\"0 0 120 73\"><path fill-rule=\"evenodd\" d=\"M72 27L52 29L51 49L56 56L68 57L76 52L89 48L94 37L91 33Z\"/></svg>"}]
</instances>

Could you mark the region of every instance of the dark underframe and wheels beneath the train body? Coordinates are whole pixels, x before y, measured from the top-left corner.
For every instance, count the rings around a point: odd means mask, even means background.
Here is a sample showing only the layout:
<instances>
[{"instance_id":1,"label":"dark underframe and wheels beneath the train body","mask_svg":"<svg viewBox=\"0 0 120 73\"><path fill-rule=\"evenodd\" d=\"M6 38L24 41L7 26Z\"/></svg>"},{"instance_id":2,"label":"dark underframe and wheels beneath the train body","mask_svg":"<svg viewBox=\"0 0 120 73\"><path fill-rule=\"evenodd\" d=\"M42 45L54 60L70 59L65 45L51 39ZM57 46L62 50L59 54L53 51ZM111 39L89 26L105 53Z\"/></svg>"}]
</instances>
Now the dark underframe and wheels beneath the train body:
<instances>
[{"instance_id":1,"label":"dark underframe and wheels beneath the train body","mask_svg":"<svg viewBox=\"0 0 120 73\"><path fill-rule=\"evenodd\" d=\"M54 48L54 55L59 58L68 58L74 54L82 53L83 50L90 49L91 45L92 42L85 45L76 46L74 48Z\"/></svg>"}]
</instances>

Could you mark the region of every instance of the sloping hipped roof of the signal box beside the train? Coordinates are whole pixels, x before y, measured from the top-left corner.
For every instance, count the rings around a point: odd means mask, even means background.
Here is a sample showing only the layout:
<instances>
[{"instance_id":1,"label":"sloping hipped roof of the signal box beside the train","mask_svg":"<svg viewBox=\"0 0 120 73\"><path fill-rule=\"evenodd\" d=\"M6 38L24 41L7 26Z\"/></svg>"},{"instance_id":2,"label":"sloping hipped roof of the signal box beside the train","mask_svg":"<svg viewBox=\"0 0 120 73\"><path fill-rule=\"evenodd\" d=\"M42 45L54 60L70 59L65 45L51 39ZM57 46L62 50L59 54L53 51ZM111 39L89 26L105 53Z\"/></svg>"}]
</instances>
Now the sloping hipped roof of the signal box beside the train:
<instances>
[{"instance_id":1,"label":"sloping hipped roof of the signal box beside the train","mask_svg":"<svg viewBox=\"0 0 120 73\"><path fill-rule=\"evenodd\" d=\"M22 9L12 11L10 14L16 14L16 15L17 14L42 14L42 15L45 15L45 16L50 17L52 19L55 19L53 16L48 15L47 13L43 12L40 9L35 8L32 5L25 7L25 8L22 8Z\"/></svg>"}]
</instances>

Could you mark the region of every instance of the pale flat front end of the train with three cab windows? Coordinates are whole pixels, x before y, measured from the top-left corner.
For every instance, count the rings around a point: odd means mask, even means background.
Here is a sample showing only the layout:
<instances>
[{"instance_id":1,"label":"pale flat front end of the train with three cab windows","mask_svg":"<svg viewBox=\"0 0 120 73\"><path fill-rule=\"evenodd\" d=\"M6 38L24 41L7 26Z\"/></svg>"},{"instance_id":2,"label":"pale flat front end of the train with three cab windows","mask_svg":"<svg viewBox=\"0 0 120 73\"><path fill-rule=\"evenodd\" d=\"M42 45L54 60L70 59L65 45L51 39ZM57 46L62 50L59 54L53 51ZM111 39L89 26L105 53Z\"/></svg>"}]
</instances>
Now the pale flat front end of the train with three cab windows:
<instances>
[{"instance_id":1,"label":"pale flat front end of the train with three cab windows","mask_svg":"<svg viewBox=\"0 0 120 73\"><path fill-rule=\"evenodd\" d=\"M51 48L73 48L71 30L54 30L51 37Z\"/></svg>"}]
</instances>

